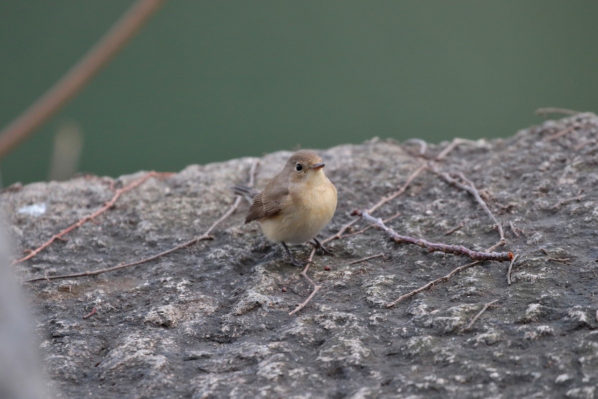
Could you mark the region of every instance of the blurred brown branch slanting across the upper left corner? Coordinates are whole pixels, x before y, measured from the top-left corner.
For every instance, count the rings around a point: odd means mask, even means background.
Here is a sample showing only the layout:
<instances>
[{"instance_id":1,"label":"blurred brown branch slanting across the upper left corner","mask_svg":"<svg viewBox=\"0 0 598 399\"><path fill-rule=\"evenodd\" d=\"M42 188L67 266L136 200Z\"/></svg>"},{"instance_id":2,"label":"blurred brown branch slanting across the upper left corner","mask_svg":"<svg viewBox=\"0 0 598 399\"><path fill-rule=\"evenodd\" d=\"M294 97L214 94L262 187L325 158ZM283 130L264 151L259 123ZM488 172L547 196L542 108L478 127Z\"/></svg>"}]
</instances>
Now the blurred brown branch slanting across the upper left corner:
<instances>
[{"instance_id":1,"label":"blurred brown branch slanting across the upper left corner","mask_svg":"<svg viewBox=\"0 0 598 399\"><path fill-rule=\"evenodd\" d=\"M0 159L51 117L130 39L164 0L138 0L50 90L0 132Z\"/></svg>"}]
</instances>

